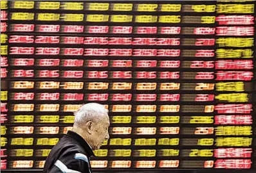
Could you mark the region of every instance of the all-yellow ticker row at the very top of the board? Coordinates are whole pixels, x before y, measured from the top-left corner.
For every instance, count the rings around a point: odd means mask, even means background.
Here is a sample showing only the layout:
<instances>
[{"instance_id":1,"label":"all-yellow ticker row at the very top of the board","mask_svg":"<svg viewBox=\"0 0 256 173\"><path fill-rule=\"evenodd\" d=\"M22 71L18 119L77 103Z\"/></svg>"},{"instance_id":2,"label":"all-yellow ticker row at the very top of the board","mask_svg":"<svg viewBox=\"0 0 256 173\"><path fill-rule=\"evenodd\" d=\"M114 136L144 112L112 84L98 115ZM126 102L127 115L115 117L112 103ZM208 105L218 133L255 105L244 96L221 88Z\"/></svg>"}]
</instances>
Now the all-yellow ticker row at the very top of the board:
<instances>
[{"instance_id":1,"label":"all-yellow ticker row at the very top of the board","mask_svg":"<svg viewBox=\"0 0 256 173\"><path fill-rule=\"evenodd\" d=\"M197 13L253 13L254 4L154 4L154 3L83 3L60 1L10 1L3 8L23 10L85 10L117 12L197 12ZM2 6L1 6L2 7Z\"/></svg>"}]
</instances>

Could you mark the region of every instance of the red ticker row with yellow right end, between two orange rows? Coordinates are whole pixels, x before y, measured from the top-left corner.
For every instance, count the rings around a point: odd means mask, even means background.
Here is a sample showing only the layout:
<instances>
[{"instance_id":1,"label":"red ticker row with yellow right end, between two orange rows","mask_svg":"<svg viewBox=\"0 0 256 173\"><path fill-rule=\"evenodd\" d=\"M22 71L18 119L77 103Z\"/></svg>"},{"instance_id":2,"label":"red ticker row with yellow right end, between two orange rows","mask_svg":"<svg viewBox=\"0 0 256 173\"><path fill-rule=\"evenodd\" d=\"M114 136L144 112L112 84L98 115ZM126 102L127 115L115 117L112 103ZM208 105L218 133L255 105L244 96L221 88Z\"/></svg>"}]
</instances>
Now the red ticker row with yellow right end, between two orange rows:
<instances>
[{"instance_id":1,"label":"red ticker row with yellow right end, between two orange rows","mask_svg":"<svg viewBox=\"0 0 256 173\"><path fill-rule=\"evenodd\" d=\"M10 93L9 98L7 92L1 91L1 101L15 101L15 103L24 103L33 101L101 101L111 103L114 101L123 102L214 102L214 103L246 103L252 101L252 94L247 93L228 93L228 94L83 94L83 93L59 93L59 92L16 92ZM202 103L203 104L203 103Z\"/></svg>"}]
</instances>

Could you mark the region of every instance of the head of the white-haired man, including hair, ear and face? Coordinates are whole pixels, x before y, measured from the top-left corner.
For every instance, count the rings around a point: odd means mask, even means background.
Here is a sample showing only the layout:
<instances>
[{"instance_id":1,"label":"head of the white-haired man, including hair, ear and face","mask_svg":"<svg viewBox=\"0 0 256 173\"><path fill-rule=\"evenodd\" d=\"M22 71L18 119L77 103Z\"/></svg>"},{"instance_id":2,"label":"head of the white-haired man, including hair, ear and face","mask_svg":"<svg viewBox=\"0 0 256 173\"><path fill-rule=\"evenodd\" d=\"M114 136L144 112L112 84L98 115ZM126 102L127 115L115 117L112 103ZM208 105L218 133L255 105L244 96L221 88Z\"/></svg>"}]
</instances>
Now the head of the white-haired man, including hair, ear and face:
<instances>
[{"instance_id":1,"label":"head of the white-haired man, including hair, ear and face","mask_svg":"<svg viewBox=\"0 0 256 173\"><path fill-rule=\"evenodd\" d=\"M73 131L81 135L93 150L100 149L104 140L109 138L108 110L102 104L84 104L75 113Z\"/></svg>"}]
</instances>

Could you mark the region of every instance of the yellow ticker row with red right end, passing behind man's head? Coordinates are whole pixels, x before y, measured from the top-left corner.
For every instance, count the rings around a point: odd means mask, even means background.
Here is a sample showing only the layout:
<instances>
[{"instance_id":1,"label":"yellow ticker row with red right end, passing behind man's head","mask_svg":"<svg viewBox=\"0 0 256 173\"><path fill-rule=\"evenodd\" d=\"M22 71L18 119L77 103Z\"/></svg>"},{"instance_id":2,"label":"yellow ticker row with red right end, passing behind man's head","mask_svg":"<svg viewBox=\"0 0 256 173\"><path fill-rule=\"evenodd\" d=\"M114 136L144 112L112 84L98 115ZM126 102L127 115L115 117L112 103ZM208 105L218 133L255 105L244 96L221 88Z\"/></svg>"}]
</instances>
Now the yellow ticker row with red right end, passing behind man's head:
<instances>
[{"instance_id":1,"label":"yellow ticker row with red right end, passing behind man's head","mask_svg":"<svg viewBox=\"0 0 256 173\"><path fill-rule=\"evenodd\" d=\"M131 115L122 115L122 116L109 116L110 122L113 126L117 124L122 125L131 125L143 124L144 126L152 126L153 124L212 124L219 125L250 125L253 122L251 115L196 115L196 116L131 116ZM2 124L73 124L75 117L73 115L6 115L1 114L1 123ZM120 125L121 126L121 125ZM2 126L1 126L2 128ZM64 132L63 132L64 133ZM3 133L1 133L3 134Z\"/></svg>"}]
</instances>

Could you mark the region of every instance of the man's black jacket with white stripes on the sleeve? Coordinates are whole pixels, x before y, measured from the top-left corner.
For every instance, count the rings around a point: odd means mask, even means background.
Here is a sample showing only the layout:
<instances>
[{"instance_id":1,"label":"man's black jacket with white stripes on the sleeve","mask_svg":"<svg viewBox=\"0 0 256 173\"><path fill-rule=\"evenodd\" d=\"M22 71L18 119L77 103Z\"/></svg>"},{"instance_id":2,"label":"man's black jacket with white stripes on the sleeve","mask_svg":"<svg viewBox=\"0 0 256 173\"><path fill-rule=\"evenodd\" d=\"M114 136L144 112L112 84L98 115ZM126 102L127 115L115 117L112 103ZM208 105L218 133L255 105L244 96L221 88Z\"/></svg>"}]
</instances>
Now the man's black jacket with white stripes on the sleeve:
<instances>
[{"instance_id":1,"label":"man's black jacket with white stripes on the sleeve","mask_svg":"<svg viewBox=\"0 0 256 173\"><path fill-rule=\"evenodd\" d=\"M91 147L77 133L68 131L46 159L44 173L91 173L89 158L95 156Z\"/></svg>"}]
</instances>

